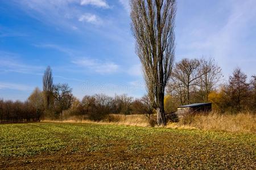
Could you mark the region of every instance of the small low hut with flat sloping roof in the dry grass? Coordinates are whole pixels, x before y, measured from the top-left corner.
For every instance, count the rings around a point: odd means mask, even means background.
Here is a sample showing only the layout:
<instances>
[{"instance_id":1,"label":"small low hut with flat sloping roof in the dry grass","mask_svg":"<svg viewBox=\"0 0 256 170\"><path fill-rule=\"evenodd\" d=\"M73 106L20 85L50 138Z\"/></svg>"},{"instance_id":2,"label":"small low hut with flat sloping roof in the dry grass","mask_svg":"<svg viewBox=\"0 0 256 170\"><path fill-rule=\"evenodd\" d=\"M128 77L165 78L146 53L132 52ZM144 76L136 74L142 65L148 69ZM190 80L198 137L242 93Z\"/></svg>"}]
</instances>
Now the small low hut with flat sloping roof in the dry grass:
<instances>
[{"instance_id":1,"label":"small low hut with flat sloping roof in the dry grass","mask_svg":"<svg viewBox=\"0 0 256 170\"><path fill-rule=\"evenodd\" d=\"M177 108L177 116L183 117L187 113L210 112L212 111L212 103L194 103L181 105Z\"/></svg>"}]
</instances>

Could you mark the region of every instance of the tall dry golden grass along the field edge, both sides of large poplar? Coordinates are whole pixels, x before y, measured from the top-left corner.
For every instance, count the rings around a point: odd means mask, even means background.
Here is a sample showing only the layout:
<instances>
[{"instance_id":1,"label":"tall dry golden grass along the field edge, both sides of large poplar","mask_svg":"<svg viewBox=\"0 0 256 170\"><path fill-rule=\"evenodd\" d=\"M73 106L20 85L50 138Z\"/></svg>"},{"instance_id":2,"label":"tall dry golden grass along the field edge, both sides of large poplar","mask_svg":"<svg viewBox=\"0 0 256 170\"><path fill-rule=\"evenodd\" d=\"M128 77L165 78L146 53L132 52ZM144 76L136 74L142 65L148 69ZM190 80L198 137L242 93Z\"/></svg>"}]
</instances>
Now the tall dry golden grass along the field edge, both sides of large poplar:
<instances>
[{"instance_id":1,"label":"tall dry golden grass along the field edge, both sides of large poplar","mask_svg":"<svg viewBox=\"0 0 256 170\"><path fill-rule=\"evenodd\" d=\"M69 117L62 121L44 120L43 122L83 122L89 124L108 124L108 125L130 125L150 127L154 126L152 119L148 120L142 114L123 115L110 114L102 121L82 120L77 117ZM173 129L201 129L201 130L223 130L231 132L256 133L256 115L253 113L220 114L212 112L210 114L197 114L188 116L186 120L177 123L169 122L166 128Z\"/></svg>"}]
</instances>

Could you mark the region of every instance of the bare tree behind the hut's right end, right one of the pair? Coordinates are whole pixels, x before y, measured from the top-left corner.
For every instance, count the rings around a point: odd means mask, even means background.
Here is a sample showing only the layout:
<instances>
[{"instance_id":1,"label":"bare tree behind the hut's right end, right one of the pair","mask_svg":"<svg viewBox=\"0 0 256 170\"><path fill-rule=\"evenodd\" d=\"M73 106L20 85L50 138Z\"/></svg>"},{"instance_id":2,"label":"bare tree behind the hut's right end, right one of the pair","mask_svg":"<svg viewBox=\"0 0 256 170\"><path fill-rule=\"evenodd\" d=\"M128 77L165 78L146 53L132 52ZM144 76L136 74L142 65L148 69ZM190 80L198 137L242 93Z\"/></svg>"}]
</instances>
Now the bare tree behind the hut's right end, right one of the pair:
<instances>
[{"instance_id":1,"label":"bare tree behind the hut's right end, right one of the pair","mask_svg":"<svg viewBox=\"0 0 256 170\"><path fill-rule=\"evenodd\" d=\"M204 102L208 102L210 92L216 88L222 77L221 68L213 58L208 60L202 58L200 60L199 75L202 75L197 79L200 95L203 97Z\"/></svg>"}]
</instances>

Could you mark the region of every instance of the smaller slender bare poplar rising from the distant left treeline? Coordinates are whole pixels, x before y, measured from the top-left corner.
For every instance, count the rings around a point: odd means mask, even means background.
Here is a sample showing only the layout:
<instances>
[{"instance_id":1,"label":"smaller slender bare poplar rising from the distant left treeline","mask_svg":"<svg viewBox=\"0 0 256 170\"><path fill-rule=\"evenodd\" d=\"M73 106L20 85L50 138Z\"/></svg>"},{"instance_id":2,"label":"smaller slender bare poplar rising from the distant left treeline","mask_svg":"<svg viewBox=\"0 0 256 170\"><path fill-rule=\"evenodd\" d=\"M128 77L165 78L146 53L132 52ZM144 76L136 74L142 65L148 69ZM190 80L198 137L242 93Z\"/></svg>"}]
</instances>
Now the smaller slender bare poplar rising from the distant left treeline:
<instances>
[{"instance_id":1,"label":"smaller slender bare poplar rising from the distant left treeline","mask_svg":"<svg viewBox=\"0 0 256 170\"><path fill-rule=\"evenodd\" d=\"M46 99L46 108L49 109L49 105L51 104L52 91L53 91L52 69L49 66L47 67L46 71L44 71L43 91Z\"/></svg>"}]
</instances>

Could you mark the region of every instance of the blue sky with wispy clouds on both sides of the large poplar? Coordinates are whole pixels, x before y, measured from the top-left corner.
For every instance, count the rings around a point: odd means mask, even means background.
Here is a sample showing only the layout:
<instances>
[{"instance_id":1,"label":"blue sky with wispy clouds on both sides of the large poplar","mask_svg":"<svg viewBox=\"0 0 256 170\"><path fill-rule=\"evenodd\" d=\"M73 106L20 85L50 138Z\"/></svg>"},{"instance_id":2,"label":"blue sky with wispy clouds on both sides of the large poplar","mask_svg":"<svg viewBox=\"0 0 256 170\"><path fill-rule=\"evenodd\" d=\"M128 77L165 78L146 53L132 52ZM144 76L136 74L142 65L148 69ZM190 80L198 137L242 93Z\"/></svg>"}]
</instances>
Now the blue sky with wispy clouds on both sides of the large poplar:
<instances>
[{"instance_id":1,"label":"blue sky with wispy clouds on both sides of the large poplar","mask_svg":"<svg viewBox=\"0 0 256 170\"><path fill-rule=\"evenodd\" d=\"M49 65L73 94L142 96L128 0L0 0L0 97L26 100ZM178 0L176 61L214 57L256 74L256 1Z\"/></svg>"}]
</instances>

